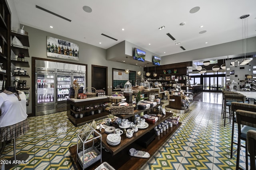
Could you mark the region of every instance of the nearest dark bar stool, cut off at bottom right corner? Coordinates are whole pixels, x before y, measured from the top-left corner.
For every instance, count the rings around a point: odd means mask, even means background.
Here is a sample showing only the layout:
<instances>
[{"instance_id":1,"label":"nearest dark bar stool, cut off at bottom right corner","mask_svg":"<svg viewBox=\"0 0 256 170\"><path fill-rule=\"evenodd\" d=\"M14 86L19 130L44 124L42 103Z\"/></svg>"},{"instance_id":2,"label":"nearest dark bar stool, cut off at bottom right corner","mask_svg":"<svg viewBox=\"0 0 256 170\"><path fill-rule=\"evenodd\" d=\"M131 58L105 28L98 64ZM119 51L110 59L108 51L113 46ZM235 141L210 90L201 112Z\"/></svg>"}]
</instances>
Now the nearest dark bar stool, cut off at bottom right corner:
<instances>
[{"instance_id":1,"label":"nearest dark bar stool, cut off at bottom right corner","mask_svg":"<svg viewBox=\"0 0 256 170\"><path fill-rule=\"evenodd\" d=\"M247 147L250 154L250 169L255 170L255 156L256 156L256 131L249 130L247 132Z\"/></svg>"}]
</instances>

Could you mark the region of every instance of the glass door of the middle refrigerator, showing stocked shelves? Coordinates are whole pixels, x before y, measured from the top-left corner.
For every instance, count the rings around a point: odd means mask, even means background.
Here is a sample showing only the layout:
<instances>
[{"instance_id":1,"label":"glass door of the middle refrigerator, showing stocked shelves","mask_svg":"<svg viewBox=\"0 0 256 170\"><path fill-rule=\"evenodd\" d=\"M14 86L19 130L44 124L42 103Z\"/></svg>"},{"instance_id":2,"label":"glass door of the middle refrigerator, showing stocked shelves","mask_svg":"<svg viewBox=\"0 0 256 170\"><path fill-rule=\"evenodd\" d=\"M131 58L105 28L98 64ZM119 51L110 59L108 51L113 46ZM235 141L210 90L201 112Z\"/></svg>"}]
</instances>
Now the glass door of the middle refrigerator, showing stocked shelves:
<instances>
[{"instance_id":1,"label":"glass door of the middle refrigerator, showing stocked shelves","mask_svg":"<svg viewBox=\"0 0 256 170\"><path fill-rule=\"evenodd\" d=\"M70 98L71 75L57 74L57 102Z\"/></svg>"}]
</instances>

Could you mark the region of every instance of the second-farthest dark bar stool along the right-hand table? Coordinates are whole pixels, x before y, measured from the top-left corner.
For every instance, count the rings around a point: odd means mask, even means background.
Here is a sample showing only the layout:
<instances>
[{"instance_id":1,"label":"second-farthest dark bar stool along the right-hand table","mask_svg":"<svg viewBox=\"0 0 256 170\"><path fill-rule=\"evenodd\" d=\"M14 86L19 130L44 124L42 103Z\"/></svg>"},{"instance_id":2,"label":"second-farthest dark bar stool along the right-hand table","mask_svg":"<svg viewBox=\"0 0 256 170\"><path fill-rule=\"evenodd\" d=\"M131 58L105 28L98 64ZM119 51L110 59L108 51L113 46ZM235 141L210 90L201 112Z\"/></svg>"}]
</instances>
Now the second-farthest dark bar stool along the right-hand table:
<instances>
[{"instance_id":1,"label":"second-farthest dark bar stool along the right-hand table","mask_svg":"<svg viewBox=\"0 0 256 170\"><path fill-rule=\"evenodd\" d=\"M240 103L247 103L246 102L246 96L242 94L224 94L224 127L226 126L226 118L229 119L229 123L231 123L232 119L232 111L231 111L231 103L232 102L240 102ZM226 107L228 106L228 113L229 117L226 117Z\"/></svg>"}]
</instances>

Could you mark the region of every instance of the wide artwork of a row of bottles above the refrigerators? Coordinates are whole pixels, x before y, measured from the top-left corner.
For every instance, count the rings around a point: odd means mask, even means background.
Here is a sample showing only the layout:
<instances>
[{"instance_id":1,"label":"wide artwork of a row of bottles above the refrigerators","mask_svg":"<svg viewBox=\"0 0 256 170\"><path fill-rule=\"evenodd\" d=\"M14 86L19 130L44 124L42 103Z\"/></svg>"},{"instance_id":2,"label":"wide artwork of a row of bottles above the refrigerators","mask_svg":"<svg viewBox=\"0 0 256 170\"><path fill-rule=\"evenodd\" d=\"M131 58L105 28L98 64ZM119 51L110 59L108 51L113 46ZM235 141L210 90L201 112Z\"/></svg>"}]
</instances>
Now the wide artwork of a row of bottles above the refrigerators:
<instances>
[{"instance_id":1,"label":"wide artwork of a row of bottles above the refrigerators","mask_svg":"<svg viewBox=\"0 0 256 170\"><path fill-rule=\"evenodd\" d=\"M60 59L68 59L78 61L79 59L79 46L78 44L48 37L46 41L46 51L48 57L56 57Z\"/></svg>"}]
</instances>

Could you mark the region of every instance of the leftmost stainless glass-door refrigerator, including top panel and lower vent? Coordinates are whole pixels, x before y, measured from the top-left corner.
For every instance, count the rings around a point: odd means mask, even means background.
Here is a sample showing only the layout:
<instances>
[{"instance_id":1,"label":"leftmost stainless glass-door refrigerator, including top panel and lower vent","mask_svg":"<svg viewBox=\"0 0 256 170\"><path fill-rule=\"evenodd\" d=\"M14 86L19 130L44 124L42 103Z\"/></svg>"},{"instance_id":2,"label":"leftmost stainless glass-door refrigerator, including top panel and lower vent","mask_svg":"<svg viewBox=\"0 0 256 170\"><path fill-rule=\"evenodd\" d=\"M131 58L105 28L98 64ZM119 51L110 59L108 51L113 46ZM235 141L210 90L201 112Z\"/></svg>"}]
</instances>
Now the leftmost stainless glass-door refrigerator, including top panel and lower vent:
<instances>
[{"instance_id":1,"label":"leftmost stainless glass-door refrigerator, including top panel and lower vent","mask_svg":"<svg viewBox=\"0 0 256 170\"><path fill-rule=\"evenodd\" d=\"M36 116L55 112L55 69L36 67Z\"/></svg>"}]
</instances>

